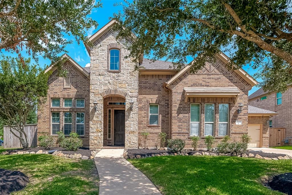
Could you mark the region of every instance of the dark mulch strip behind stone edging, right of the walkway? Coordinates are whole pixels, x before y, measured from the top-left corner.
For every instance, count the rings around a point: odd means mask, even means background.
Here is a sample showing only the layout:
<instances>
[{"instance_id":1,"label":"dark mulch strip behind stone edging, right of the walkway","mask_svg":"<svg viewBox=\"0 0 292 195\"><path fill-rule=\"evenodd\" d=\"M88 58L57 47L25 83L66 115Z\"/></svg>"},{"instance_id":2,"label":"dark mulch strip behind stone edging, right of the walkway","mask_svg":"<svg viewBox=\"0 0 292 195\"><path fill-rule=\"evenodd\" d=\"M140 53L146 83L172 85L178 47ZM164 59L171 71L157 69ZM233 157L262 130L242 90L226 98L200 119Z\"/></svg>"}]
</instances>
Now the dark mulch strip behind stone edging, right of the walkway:
<instances>
[{"instance_id":1,"label":"dark mulch strip behind stone edging, right of the walkway","mask_svg":"<svg viewBox=\"0 0 292 195\"><path fill-rule=\"evenodd\" d=\"M154 150L154 149L128 149L127 150L127 155L126 156L130 156L130 155L140 155L140 156L146 156L146 155L150 155L151 154L160 154L160 153L168 153L171 154L173 152L170 151L166 151L166 150ZM202 151L184 151L187 152L188 155L193 155L194 153L202 153ZM205 151L206 152L206 151ZM208 151L210 153L210 151ZM211 153L216 153L219 154L219 152L211 152ZM242 153L246 153L246 155L248 156L249 153L252 153L254 156L256 156L256 154L262 156L262 157L267 157L267 158L277 158L278 156L282 156L284 157L285 154L275 154L275 153L264 153L262 151L246 151L246 152L242 152Z\"/></svg>"}]
</instances>

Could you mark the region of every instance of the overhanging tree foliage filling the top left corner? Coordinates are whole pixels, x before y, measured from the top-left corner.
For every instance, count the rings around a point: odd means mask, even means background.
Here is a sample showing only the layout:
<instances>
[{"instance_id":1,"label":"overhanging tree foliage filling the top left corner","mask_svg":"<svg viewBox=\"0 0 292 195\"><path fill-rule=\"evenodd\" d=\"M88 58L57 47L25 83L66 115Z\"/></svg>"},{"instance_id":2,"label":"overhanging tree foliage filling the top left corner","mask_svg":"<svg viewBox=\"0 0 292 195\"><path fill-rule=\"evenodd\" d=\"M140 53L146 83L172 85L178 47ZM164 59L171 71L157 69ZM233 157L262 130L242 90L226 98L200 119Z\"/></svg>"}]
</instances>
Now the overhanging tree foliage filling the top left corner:
<instances>
[{"instance_id":1,"label":"overhanging tree foliage filling the top left corner","mask_svg":"<svg viewBox=\"0 0 292 195\"><path fill-rule=\"evenodd\" d=\"M16 52L21 58L20 51L26 49L36 61L41 54L60 65L58 54L72 42L64 38L66 34L78 44L91 44L86 32L98 24L88 15L100 6L95 0L2 0L0 50Z\"/></svg>"}]
</instances>

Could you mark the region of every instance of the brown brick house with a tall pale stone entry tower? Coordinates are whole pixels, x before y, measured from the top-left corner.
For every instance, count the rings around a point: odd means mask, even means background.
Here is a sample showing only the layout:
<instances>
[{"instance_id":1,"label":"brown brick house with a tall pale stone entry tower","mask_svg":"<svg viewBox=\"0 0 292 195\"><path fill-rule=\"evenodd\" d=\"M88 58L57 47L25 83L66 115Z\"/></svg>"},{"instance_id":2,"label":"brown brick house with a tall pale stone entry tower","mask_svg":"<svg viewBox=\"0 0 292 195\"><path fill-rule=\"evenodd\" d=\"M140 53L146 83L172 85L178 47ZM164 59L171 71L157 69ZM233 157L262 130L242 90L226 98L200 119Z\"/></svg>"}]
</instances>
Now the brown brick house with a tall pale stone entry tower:
<instances>
[{"instance_id":1,"label":"brown brick house with a tall pale stone entry tower","mask_svg":"<svg viewBox=\"0 0 292 195\"><path fill-rule=\"evenodd\" d=\"M110 29L114 24L110 21L89 38L95 46L86 46L90 67L82 68L65 54L67 77L58 77L54 67L46 70L53 74L47 103L38 112L38 135L74 131L94 149L137 148L144 131L150 132L149 147L157 145L159 132L185 140L186 147L194 135L202 138L199 147L205 147L207 135L215 136L216 143L225 135L239 141L248 123L260 124L266 134L269 116L248 114L248 91L257 82L242 69L229 70L225 54L196 74L190 74L189 65L175 70L171 62L146 58L135 71L137 63L125 58L133 40L117 41ZM240 103L245 106L238 113ZM264 138L260 143L268 146Z\"/></svg>"}]
</instances>

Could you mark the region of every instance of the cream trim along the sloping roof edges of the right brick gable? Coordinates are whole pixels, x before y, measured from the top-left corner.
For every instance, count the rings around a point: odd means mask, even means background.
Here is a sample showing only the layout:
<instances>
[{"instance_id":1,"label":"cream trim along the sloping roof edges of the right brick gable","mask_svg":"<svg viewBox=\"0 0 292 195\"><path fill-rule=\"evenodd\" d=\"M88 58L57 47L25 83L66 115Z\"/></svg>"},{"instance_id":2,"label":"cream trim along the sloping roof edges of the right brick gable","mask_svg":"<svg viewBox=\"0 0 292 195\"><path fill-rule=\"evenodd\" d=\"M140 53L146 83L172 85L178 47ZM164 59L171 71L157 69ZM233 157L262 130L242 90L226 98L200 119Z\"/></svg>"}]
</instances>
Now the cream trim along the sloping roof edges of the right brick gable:
<instances>
[{"instance_id":1,"label":"cream trim along the sloping roof edges of the right brick gable","mask_svg":"<svg viewBox=\"0 0 292 195\"><path fill-rule=\"evenodd\" d=\"M230 63L230 59L225 54L223 54L222 52L220 52L220 54L218 54L217 56L220 59L222 59L225 63ZM195 61L195 60L196 59L194 59L193 61ZM170 80L165 82L165 84L164 84L165 87L168 87L171 83L173 83L175 80L177 80L181 75L183 75L185 72L187 72L187 70L189 70L190 67L191 67L191 65L187 65L185 68L180 70L180 72L178 72L176 75L171 77ZM240 68L238 70L234 70L234 71L237 74L239 74L244 80L246 80L251 86L255 86L256 84L258 84L258 82L253 77L251 77L251 75L249 75L246 71L244 71L242 68Z\"/></svg>"}]
</instances>

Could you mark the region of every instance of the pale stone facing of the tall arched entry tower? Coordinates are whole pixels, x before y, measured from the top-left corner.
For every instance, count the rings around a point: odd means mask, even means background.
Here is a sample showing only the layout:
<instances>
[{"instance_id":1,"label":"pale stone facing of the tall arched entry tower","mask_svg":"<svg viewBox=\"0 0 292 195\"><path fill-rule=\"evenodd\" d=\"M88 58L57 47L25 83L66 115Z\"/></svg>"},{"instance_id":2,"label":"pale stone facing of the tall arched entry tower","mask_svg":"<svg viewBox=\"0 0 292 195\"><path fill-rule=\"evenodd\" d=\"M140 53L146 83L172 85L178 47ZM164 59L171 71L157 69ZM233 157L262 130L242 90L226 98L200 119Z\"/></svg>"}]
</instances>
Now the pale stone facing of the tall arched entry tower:
<instances>
[{"instance_id":1,"label":"pale stone facing of the tall arched entry tower","mask_svg":"<svg viewBox=\"0 0 292 195\"><path fill-rule=\"evenodd\" d=\"M130 58L126 46L116 40L112 33L105 33L102 39L94 42L95 47L90 51L90 136L89 148L100 148L104 134L104 98L109 96L124 97L125 106L125 147L138 147L138 71L136 63ZM109 49L120 50L119 71L109 70ZM129 102L133 100L133 111ZM97 102L94 111L93 102Z\"/></svg>"}]
</instances>

